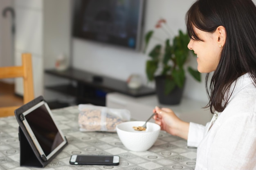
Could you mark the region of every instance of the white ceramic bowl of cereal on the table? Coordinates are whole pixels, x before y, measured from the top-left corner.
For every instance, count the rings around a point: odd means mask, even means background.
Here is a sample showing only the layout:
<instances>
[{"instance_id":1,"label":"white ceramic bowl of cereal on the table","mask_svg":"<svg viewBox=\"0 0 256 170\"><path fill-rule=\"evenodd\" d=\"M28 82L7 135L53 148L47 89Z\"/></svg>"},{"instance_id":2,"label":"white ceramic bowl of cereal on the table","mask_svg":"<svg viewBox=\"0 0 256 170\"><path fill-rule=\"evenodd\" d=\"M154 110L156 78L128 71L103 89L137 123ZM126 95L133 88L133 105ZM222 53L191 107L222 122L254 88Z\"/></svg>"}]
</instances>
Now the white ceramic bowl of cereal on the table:
<instances>
[{"instance_id":1,"label":"white ceramic bowl of cereal on the table","mask_svg":"<svg viewBox=\"0 0 256 170\"><path fill-rule=\"evenodd\" d=\"M145 121L126 121L117 125L117 135L124 146L131 151L146 151L157 140L160 132L158 124L148 122L145 131L134 130L133 126L142 126Z\"/></svg>"}]
</instances>

